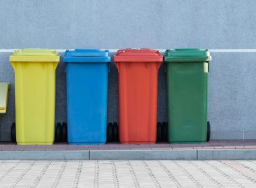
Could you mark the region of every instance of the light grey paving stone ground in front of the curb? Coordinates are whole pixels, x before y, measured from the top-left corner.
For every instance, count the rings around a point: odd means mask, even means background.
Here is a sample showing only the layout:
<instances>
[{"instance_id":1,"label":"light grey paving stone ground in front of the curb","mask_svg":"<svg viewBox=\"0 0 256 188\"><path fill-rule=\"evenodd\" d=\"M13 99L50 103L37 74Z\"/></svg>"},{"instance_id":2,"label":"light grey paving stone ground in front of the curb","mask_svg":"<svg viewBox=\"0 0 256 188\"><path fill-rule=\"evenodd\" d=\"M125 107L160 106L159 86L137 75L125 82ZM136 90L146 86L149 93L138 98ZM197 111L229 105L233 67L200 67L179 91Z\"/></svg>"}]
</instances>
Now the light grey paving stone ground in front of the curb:
<instances>
[{"instance_id":1,"label":"light grey paving stone ground in front of the curb","mask_svg":"<svg viewBox=\"0 0 256 188\"><path fill-rule=\"evenodd\" d=\"M0 160L0 187L255 187L256 160Z\"/></svg>"}]
</instances>

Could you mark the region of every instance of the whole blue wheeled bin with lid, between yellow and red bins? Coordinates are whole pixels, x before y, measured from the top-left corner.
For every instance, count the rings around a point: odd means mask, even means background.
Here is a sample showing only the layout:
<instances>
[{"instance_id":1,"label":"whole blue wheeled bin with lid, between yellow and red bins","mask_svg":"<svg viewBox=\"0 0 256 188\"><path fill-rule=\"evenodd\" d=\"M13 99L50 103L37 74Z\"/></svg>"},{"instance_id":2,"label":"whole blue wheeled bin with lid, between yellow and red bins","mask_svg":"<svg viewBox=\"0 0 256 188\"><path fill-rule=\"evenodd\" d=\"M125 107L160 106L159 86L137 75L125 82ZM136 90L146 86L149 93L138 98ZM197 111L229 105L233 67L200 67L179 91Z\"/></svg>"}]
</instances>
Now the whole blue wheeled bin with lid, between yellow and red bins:
<instances>
[{"instance_id":1,"label":"whole blue wheeled bin with lid, between yellow and red bins","mask_svg":"<svg viewBox=\"0 0 256 188\"><path fill-rule=\"evenodd\" d=\"M108 99L108 50L66 50L67 140L104 144Z\"/></svg>"}]
</instances>

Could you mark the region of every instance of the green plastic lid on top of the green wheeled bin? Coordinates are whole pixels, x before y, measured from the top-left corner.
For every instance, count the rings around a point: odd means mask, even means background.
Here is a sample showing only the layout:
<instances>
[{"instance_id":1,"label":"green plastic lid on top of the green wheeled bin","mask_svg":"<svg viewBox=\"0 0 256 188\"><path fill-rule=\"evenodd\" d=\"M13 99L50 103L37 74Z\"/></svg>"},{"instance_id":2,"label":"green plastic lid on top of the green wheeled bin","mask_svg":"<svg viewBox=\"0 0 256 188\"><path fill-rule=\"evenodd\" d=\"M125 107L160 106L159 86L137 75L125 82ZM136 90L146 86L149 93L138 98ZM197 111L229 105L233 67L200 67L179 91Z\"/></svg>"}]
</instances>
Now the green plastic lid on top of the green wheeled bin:
<instances>
[{"instance_id":1,"label":"green plastic lid on top of the green wheeled bin","mask_svg":"<svg viewBox=\"0 0 256 188\"><path fill-rule=\"evenodd\" d=\"M166 50L165 62L209 62L212 60L210 52L206 49L181 48Z\"/></svg>"}]
</instances>

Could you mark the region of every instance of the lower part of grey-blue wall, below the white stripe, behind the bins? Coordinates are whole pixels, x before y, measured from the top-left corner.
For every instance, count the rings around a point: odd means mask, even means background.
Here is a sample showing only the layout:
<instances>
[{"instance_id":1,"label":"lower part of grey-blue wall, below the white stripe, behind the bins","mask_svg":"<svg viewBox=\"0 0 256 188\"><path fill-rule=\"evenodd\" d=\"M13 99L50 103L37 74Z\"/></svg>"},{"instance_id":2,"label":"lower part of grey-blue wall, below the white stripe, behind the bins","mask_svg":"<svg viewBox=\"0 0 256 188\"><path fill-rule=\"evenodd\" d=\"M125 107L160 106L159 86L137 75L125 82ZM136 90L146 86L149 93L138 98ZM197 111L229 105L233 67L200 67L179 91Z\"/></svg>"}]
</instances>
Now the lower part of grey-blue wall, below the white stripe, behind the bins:
<instances>
[{"instance_id":1,"label":"lower part of grey-blue wall, below the white stripe, behind the bins","mask_svg":"<svg viewBox=\"0 0 256 188\"><path fill-rule=\"evenodd\" d=\"M9 140L15 121L14 74L9 52L0 53L0 81L11 83L7 113L0 117L0 140ZM60 53L63 55L63 53ZM208 120L212 139L256 139L256 52L212 52L208 89ZM64 63L57 67L56 122L67 121ZM158 73L158 121L167 120L166 74ZM118 77L111 63L108 81L108 122L118 122Z\"/></svg>"}]
</instances>

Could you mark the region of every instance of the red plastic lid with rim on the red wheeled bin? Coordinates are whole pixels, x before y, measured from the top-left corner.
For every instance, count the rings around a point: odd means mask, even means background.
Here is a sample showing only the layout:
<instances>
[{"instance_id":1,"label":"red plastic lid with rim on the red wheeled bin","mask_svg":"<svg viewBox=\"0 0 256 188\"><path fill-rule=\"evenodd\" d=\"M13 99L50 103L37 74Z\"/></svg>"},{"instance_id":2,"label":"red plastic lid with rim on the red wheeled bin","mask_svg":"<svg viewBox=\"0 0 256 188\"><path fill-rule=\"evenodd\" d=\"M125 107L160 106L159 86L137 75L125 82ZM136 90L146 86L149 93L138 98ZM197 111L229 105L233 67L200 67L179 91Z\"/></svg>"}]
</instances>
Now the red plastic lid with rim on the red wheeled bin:
<instances>
[{"instance_id":1,"label":"red plastic lid with rim on the red wheeled bin","mask_svg":"<svg viewBox=\"0 0 256 188\"><path fill-rule=\"evenodd\" d=\"M114 62L162 62L163 57L158 50L148 48L121 49L114 56Z\"/></svg>"}]
</instances>

